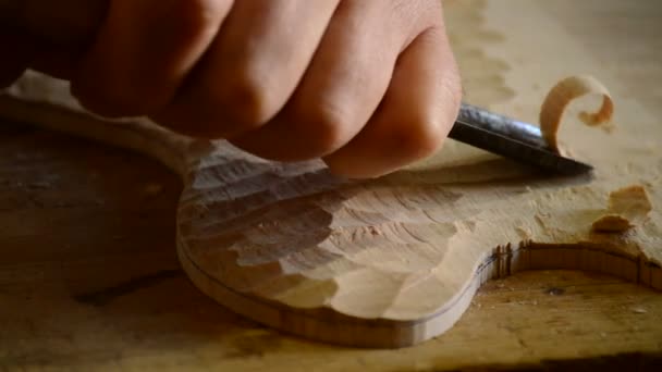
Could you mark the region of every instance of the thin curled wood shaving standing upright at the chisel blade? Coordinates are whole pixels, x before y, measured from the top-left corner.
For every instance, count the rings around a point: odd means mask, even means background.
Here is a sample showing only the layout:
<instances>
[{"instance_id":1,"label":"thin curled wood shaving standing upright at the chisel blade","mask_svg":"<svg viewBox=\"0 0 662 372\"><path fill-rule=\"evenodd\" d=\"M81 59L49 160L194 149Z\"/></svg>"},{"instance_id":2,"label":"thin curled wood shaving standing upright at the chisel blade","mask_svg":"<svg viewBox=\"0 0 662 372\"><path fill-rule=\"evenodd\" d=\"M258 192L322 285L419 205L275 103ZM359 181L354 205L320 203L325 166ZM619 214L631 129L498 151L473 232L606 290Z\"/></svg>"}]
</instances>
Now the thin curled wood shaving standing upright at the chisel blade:
<instances>
[{"instance_id":1,"label":"thin curled wood shaving standing upright at the chisel blade","mask_svg":"<svg viewBox=\"0 0 662 372\"><path fill-rule=\"evenodd\" d=\"M547 95L540 110L540 131L550 148L559 151L556 133L561 117L568 103L581 96L602 95L602 106L594 113L581 112L579 119L589 126L598 126L609 122L614 112L614 103L609 90L592 76L571 76L556 84Z\"/></svg>"}]
</instances>

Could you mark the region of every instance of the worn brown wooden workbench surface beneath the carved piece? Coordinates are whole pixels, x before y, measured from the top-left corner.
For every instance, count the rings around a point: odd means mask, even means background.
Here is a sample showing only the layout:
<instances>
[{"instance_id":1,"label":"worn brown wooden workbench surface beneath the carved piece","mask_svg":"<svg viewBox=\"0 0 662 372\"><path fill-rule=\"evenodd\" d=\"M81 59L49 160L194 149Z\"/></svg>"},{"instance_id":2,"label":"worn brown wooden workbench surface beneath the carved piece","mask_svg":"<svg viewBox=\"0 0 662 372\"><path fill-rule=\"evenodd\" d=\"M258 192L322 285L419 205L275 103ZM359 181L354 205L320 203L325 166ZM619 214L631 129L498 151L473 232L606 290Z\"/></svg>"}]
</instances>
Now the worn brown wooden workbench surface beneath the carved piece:
<instances>
[{"instance_id":1,"label":"worn brown wooden workbench surface beneath the carved piece","mask_svg":"<svg viewBox=\"0 0 662 372\"><path fill-rule=\"evenodd\" d=\"M499 2L513 7L513 22L517 2ZM467 3L483 5L449 0L448 11L467 11ZM630 99L662 117L661 3L540 3L621 79ZM471 48L481 37L493 39L483 30ZM498 73L490 71L502 69L498 63L469 67L463 73L473 102L505 99L505 88L481 88L481 73ZM278 334L209 300L181 272L174 248L180 187L175 175L137 154L0 123L0 370L621 370L662 363L660 293L567 271L490 282L455 327L413 348L350 349Z\"/></svg>"}]
</instances>

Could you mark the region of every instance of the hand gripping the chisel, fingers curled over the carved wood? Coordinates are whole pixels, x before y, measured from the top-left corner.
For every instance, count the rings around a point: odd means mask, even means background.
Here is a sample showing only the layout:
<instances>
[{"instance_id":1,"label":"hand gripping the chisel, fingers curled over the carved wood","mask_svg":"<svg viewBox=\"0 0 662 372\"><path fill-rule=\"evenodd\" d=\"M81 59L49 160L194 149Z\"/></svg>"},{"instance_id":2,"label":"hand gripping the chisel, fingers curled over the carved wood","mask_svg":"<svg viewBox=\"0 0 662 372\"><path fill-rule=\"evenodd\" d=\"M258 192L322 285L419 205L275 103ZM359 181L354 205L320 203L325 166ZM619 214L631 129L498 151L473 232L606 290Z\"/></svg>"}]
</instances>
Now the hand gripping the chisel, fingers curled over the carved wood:
<instances>
[{"instance_id":1,"label":"hand gripping the chisel, fingers curled over the carved wood","mask_svg":"<svg viewBox=\"0 0 662 372\"><path fill-rule=\"evenodd\" d=\"M459 106L440 0L24 2L40 7L25 5L23 23L46 16L24 27L41 38L19 42L39 45L22 61L69 78L85 108L267 159L381 175L436 151ZM39 30L59 18L69 26L58 34ZM58 40L45 48L49 35ZM65 47L85 35L85 48Z\"/></svg>"}]
</instances>

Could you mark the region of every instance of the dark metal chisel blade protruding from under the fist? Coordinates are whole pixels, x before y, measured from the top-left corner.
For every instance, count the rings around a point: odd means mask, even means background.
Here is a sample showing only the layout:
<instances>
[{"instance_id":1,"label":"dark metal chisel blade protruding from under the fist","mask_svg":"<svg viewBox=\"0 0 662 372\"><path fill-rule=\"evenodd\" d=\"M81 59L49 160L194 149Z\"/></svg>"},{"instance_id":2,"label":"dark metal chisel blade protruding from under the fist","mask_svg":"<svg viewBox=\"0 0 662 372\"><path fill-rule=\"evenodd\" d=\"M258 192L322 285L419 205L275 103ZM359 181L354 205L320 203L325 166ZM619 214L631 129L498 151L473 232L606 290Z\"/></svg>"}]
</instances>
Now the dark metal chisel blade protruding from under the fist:
<instances>
[{"instance_id":1,"label":"dark metal chisel blade protruding from under the fist","mask_svg":"<svg viewBox=\"0 0 662 372\"><path fill-rule=\"evenodd\" d=\"M449 137L559 174L579 175L593 169L550 150L538 127L469 104L463 104Z\"/></svg>"}]
</instances>

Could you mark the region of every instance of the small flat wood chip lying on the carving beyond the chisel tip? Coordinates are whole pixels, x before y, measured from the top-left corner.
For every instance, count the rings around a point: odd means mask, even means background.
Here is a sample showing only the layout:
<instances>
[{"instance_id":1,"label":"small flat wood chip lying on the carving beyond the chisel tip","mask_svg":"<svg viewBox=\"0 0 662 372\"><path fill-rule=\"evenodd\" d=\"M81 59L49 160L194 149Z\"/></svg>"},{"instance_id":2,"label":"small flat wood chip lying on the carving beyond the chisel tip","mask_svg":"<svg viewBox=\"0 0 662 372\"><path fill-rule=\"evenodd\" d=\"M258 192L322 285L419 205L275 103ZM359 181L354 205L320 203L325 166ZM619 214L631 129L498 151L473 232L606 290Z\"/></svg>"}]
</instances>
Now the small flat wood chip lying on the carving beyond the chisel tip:
<instances>
[{"instance_id":1,"label":"small flat wood chip lying on the carving beyond the chisel tip","mask_svg":"<svg viewBox=\"0 0 662 372\"><path fill-rule=\"evenodd\" d=\"M593 232L621 233L642 223L652 210L646 189L633 185L617 189L609 196L608 214L596 220Z\"/></svg>"}]
</instances>

